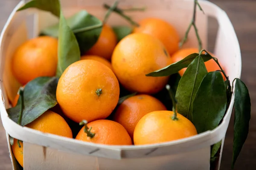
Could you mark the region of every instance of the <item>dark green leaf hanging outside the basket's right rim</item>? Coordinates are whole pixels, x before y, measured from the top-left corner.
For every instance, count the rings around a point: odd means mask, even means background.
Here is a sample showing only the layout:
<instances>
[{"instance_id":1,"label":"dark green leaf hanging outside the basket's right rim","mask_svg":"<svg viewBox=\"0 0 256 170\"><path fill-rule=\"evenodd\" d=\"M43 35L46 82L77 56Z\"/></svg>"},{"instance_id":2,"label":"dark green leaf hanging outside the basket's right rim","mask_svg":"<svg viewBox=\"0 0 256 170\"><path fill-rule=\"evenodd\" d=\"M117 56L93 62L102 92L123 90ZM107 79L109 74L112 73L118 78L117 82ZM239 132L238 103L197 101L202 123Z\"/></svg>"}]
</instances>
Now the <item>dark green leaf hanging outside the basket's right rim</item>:
<instances>
[{"instance_id":1,"label":"dark green leaf hanging outside the basket's right rim","mask_svg":"<svg viewBox=\"0 0 256 170\"><path fill-rule=\"evenodd\" d=\"M251 113L250 95L246 85L240 79L236 79L235 87L235 119L232 169L234 168L236 159L239 156L239 153L247 138Z\"/></svg>"}]
</instances>

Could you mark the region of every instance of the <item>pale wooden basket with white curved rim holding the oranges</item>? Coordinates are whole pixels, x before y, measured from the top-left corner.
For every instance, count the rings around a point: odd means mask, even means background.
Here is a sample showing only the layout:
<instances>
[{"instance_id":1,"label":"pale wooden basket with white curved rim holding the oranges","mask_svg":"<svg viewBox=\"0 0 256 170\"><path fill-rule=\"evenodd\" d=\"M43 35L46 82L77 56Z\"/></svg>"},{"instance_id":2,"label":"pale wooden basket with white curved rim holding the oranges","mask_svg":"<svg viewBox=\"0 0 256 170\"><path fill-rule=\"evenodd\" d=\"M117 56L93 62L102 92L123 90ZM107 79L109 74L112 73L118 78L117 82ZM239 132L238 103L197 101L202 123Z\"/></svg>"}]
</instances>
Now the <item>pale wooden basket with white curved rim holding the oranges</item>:
<instances>
[{"instance_id":1,"label":"pale wooden basket with white curved rim holding the oranges","mask_svg":"<svg viewBox=\"0 0 256 170\"><path fill-rule=\"evenodd\" d=\"M11 151L9 135L23 141L25 170L209 170L210 146L222 140L222 147L234 104L232 96L230 107L221 125L212 131L174 142L150 144L145 146L108 146L81 142L28 127L17 125L9 119L6 108L10 107L20 84L13 77L10 60L15 49L25 40L38 36L42 28L56 23L51 14L35 9L16 12L25 2L21 1L13 10L0 37L0 112L6 130L10 156L14 170L17 169ZM103 18L103 3L113 0L61 0L66 17L81 9ZM121 0L122 7L146 6L145 12L131 12L134 20L144 17L160 17L172 23L184 36L192 17L193 0ZM204 48L207 49L207 21L213 17L218 21L215 42L215 55L225 66L232 82L241 75L241 53L234 28L227 14L208 1L200 1L205 14L198 10L197 22ZM117 14L111 14L110 25L128 25ZM196 47L194 31L184 47ZM220 158L221 159L221 158ZM218 168L220 160L218 161Z\"/></svg>"}]
</instances>

